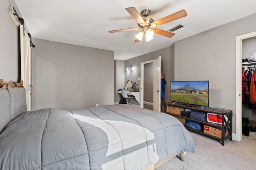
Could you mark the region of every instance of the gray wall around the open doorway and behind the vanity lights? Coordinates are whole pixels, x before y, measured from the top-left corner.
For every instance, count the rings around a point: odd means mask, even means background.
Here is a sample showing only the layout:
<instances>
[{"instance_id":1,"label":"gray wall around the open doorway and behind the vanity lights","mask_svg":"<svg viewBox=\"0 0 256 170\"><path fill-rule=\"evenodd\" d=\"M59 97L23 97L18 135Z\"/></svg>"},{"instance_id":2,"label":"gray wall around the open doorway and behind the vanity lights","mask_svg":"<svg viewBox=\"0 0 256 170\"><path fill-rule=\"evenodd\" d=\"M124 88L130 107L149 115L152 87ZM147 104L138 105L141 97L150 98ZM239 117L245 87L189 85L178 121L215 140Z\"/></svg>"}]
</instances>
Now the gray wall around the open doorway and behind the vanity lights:
<instances>
[{"instance_id":1,"label":"gray wall around the open doorway and behind the vanity lights","mask_svg":"<svg viewBox=\"0 0 256 170\"><path fill-rule=\"evenodd\" d=\"M138 81L138 77L140 76L140 63L156 59L159 56L161 56L161 69L164 73L165 80L167 82L165 85L164 99L165 101L170 101L170 81L174 80L174 45L126 60L125 68L129 65L134 65L135 69L132 71L125 71L125 82L128 79L132 79L137 84L140 83L140 81ZM151 92L144 91L144 93ZM134 97L130 100L129 103L139 105L138 102L134 99Z\"/></svg>"}]
</instances>

